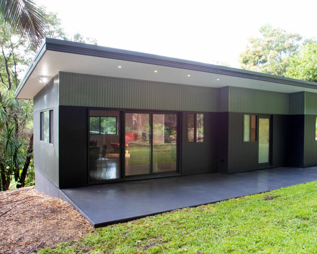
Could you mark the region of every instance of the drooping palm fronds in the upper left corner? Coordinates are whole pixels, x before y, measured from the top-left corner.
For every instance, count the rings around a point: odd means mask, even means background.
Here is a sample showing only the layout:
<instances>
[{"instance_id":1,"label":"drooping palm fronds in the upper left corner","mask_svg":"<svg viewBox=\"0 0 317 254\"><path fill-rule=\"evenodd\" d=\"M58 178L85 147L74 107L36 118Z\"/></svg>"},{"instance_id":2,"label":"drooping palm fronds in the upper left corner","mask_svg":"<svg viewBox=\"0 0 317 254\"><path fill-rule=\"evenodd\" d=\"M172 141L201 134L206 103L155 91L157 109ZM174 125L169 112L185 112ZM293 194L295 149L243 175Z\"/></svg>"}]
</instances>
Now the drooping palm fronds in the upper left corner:
<instances>
[{"instance_id":1,"label":"drooping palm fronds in the upper left corner","mask_svg":"<svg viewBox=\"0 0 317 254\"><path fill-rule=\"evenodd\" d=\"M35 0L0 0L0 23L27 38L36 49L45 34L42 10Z\"/></svg>"}]
</instances>

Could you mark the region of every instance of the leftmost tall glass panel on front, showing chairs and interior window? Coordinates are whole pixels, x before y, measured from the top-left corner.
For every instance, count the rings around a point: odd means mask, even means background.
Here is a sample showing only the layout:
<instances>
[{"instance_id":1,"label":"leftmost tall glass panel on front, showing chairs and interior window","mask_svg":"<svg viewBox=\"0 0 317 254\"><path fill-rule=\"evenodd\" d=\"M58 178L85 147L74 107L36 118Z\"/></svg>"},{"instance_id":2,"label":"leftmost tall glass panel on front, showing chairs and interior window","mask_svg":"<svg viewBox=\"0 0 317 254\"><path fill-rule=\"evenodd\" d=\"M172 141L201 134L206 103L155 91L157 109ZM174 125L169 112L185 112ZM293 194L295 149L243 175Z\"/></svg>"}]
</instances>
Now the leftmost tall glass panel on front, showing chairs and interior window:
<instances>
[{"instance_id":1,"label":"leftmost tall glass panel on front, showing chairs and interior window","mask_svg":"<svg viewBox=\"0 0 317 254\"><path fill-rule=\"evenodd\" d=\"M89 181L120 178L120 111L89 110Z\"/></svg>"}]
</instances>

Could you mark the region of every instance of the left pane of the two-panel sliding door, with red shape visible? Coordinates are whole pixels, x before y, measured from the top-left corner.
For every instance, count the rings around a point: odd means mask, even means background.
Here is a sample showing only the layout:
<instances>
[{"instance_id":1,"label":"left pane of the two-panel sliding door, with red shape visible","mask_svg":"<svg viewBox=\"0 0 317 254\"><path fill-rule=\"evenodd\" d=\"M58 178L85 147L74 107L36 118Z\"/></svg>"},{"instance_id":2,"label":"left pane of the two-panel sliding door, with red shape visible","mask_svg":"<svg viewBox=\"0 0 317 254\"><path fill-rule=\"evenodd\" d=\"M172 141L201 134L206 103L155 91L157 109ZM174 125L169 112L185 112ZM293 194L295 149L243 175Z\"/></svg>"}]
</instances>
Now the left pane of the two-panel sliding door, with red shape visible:
<instances>
[{"instance_id":1,"label":"left pane of the two-panel sliding door, with red shape visible","mask_svg":"<svg viewBox=\"0 0 317 254\"><path fill-rule=\"evenodd\" d=\"M126 113L126 176L149 174L151 171L150 114Z\"/></svg>"}]
</instances>

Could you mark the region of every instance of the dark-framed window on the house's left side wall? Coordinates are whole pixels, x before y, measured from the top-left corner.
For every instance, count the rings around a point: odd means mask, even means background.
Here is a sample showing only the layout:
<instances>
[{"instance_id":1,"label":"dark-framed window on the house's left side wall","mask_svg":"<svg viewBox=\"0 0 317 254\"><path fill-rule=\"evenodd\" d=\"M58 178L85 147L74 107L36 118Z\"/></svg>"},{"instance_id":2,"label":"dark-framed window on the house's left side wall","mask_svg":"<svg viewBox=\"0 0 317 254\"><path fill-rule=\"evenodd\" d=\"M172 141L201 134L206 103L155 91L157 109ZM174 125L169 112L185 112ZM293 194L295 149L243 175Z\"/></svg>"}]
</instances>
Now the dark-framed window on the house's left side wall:
<instances>
[{"instance_id":1,"label":"dark-framed window on the house's left side wall","mask_svg":"<svg viewBox=\"0 0 317 254\"><path fill-rule=\"evenodd\" d=\"M40 114L41 134L40 139L46 143L53 144L54 141L54 116L53 110L46 110Z\"/></svg>"}]
</instances>

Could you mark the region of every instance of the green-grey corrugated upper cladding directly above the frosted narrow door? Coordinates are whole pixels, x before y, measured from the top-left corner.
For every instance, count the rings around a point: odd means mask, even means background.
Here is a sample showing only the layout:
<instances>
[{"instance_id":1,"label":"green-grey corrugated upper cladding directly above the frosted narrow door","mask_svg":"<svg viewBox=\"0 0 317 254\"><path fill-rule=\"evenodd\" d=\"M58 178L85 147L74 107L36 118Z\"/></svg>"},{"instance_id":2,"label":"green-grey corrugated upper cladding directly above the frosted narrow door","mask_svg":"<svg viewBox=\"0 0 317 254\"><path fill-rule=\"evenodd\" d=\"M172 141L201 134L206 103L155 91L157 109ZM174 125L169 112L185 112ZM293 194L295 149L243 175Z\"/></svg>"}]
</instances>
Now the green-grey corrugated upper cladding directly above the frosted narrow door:
<instances>
[{"instance_id":1,"label":"green-grey corrugated upper cladding directly above the frosted narrow door","mask_svg":"<svg viewBox=\"0 0 317 254\"><path fill-rule=\"evenodd\" d=\"M288 114L288 94L245 89L229 88L229 111L258 114Z\"/></svg>"}]
</instances>

